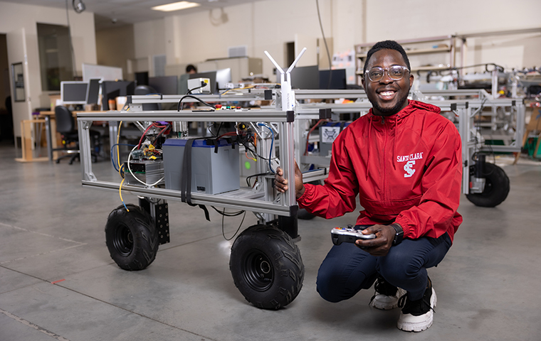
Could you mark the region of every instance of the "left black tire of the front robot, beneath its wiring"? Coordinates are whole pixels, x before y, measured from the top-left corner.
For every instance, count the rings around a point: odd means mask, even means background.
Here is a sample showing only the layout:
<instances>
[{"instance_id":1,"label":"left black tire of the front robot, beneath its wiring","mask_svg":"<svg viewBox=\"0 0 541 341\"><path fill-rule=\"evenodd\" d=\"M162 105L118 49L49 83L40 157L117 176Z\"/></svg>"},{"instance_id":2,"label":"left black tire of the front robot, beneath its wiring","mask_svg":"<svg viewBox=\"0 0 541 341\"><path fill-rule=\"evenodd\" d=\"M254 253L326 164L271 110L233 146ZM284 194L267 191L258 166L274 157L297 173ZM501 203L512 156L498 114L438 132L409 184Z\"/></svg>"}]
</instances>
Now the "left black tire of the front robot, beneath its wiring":
<instances>
[{"instance_id":1,"label":"left black tire of the front robot, beneath its wiring","mask_svg":"<svg viewBox=\"0 0 541 341\"><path fill-rule=\"evenodd\" d=\"M158 233L154 221L141 207L120 205L105 224L105 242L111 258L125 270L142 270L156 258Z\"/></svg>"}]
</instances>

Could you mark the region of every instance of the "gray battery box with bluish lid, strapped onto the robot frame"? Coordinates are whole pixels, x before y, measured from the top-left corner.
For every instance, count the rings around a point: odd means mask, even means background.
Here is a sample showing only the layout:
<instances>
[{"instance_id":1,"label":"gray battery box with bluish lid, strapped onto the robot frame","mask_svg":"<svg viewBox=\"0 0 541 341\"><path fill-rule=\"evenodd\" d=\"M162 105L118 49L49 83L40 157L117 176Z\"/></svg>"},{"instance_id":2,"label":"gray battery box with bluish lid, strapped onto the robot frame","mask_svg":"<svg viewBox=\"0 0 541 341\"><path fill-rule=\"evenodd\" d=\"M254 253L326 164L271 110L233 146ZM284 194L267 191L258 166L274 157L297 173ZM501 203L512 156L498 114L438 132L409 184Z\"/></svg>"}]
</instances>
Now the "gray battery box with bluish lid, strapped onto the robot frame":
<instances>
[{"instance_id":1,"label":"gray battery box with bluish lid, strapped onto the robot frame","mask_svg":"<svg viewBox=\"0 0 541 341\"><path fill-rule=\"evenodd\" d=\"M182 163L188 139L167 139L163 146L165 188L181 190ZM216 151L216 153L215 153ZM191 193L219 194L241 186L238 148L225 139L207 143L196 139L191 145Z\"/></svg>"}]
</instances>

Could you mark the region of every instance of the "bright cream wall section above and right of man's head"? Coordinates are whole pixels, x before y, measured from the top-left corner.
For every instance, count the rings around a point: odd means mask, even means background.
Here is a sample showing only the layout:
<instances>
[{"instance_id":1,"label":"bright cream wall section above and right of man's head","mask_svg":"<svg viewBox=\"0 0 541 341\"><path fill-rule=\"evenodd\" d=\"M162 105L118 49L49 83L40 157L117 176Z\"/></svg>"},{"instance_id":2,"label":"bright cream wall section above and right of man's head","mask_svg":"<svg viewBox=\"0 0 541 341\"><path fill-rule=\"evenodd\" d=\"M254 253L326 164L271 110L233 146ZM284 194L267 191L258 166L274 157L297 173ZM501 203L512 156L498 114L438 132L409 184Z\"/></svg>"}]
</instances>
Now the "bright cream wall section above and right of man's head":
<instances>
[{"instance_id":1,"label":"bright cream wall section above and right of man's head","mask_svg":"<svg viewBox=\"0 0 541 341\"><path fill-rule=\"evenodd\" d=\"M365 1L367 43L384 39L541 28L539 0ZM396 18L389 13L397 13ZM508 68L539 67L541 34L468 39L466 65L480 63L495 63Z\"/></svg>"}]
</instances>

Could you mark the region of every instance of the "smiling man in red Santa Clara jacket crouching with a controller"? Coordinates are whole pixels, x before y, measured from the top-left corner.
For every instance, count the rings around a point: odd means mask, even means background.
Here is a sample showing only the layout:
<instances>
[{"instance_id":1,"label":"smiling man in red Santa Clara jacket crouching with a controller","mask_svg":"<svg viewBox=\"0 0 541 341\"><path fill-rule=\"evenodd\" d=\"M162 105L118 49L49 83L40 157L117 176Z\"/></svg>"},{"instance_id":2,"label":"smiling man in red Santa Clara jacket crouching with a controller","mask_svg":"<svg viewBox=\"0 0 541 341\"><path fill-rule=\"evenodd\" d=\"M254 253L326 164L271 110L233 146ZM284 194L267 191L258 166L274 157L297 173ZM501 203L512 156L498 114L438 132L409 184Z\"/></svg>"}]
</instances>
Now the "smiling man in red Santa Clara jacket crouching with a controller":
<instances>
[{"instance_id":1,"label":"smiling man in red Santa Clara jacket crouching with a controller","mask_svg":"<svg viewBox=\"0 0 541 341\"><path fill-rule=\"evenodd\" d=\"M362 85L372 109L335 140L325 185L303 185L295 165L295 191L300 207L325 218L352 212L358 194L364 210L356 223L376 234L332 247L317 274L320 296L339 302L377 280L369 304L402 307L397 327L420 332L432 325L436 306L426 269L441 262L462 222L462 161L451 121L438 107L407 99L410 70L394 41L369 50ZM288 190L280 168L275 188Z\"/></svg>"}]
</instances>

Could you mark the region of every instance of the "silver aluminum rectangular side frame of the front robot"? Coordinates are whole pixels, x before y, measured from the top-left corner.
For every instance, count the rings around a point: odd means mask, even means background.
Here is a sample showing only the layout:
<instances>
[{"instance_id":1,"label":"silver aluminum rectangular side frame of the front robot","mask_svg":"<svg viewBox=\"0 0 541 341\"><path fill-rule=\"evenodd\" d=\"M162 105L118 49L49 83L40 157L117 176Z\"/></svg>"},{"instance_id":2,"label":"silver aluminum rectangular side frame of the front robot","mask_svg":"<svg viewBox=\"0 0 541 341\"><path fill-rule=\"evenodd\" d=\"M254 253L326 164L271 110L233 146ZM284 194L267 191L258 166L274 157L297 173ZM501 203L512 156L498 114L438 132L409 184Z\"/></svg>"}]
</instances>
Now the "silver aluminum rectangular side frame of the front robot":
<instances>
[{"instance_id":1,"label":"silver aluminum rectangular side frame of the front robot","mask_svg":"<svg viewBox=\"0 0 541 341\"><path fill-rule=\"evenodd\" d=\"M136 99L137 100L137 99ZM154 99L155 101L156 99ZM145 102L146 99L141 99ZM136 101L137 102L137 101ZM140 102L140 103L141 103ZM89 129L93 121L252 121L272 122L277 127L280 136L280 162L284 170L285 178L295 174L294 163L294 118L293 112L280 112L271 110L241 110L241 111L149 111L149 112L107 112L107 113L80 113L78 114L78 129L80 141L80 161L82 172L82 184L84 188L101 190L118 190L120 183L112 183L98 180L92 171L90 158L90 134ZM268 151L262 151L268 152ZM254 193L252 190L241 188L229 193L208 195L192 193L192 202L196 205L217 205L219 207L236 210L249 210L271 215L290 217L296 211L295 193L288 191L280 195L280 200L275 200L270 186L264 186L264 190ZM140 185L123 185L122 190L133 195L156 197L164 200L181 201L181 192L164 188L145 188Z\"/></svg>"}]
</instances>

